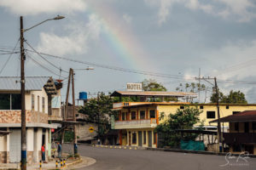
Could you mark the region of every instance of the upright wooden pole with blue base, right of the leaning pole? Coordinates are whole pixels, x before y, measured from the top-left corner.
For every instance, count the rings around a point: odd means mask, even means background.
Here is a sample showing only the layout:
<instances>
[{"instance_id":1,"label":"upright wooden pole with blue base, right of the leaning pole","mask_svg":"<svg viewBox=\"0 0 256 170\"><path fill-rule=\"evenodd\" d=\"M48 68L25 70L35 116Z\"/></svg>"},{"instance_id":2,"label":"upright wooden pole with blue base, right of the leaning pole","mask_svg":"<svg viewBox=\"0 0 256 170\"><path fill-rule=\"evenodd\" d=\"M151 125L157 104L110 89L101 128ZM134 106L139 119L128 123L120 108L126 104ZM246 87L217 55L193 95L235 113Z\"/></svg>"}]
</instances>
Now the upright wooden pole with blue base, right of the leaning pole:
<instances>
[{"instance_id":1,"label":"upright wooden pole with blue base, right of the leaning pole","mask_svg":"<svg viewBox=\"0 0 256 170\"><path fill-rule=\"evenodd\" d=\"M73 103L73 154L74 156L78 154L78 141L77 141L77 131L76 131L76 113L75 113L75 94L74 94L74 72L73 69L70 69L72 75L72 103Z\"/></svg>"}]
</instances>

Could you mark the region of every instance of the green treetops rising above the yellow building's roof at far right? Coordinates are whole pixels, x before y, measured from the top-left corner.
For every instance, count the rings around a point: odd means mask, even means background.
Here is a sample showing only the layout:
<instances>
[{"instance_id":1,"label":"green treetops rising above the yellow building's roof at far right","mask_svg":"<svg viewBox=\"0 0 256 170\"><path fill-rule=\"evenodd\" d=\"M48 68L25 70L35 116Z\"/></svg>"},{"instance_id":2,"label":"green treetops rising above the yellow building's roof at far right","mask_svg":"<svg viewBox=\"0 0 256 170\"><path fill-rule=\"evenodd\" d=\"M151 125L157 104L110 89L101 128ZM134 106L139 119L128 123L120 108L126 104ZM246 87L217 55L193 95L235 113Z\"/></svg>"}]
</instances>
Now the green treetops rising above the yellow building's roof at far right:
<instances>
[{"instance_id":1,"label":"green treetops rising above the yellow building's roof at far right","mask_svg":"<svg viewBox=\"0 0 256 170\"><path fill-rule=\"evenodd\" d=\"M233 91L230 90L230 94L224 95L223 93L219 92L218 97L219 103L225 103L225 104L247 104L247 99L245 99L245 94L243 94L241 91ZM212 94L211 102L216 103L217 102L217 94Z\"/></svg>"}]
</instances>

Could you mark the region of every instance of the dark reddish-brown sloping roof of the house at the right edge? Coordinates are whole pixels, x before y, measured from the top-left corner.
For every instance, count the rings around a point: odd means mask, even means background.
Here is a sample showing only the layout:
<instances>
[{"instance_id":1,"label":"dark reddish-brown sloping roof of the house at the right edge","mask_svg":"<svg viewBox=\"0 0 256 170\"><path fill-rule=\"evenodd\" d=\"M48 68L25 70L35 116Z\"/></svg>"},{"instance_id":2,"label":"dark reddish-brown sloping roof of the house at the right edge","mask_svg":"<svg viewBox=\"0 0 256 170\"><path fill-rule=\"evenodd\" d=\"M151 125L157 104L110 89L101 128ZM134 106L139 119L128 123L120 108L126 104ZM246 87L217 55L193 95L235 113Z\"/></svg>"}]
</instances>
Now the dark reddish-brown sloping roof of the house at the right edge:
<instances>
[{"instance_id":1,"label":"dark reddish-brown sloping roof of the house at the right edge","mask_svg":"<svg viewBox=\"0 0 256 170\"><path fill-rule=\"evenodd\" d=\"M256 111L242 111L240 113L236 113L235 115L224 116L220 118L219 121L220 122L256 122ZM218 122L218 119L211 122Z\"/></svg>"}]
</instances>

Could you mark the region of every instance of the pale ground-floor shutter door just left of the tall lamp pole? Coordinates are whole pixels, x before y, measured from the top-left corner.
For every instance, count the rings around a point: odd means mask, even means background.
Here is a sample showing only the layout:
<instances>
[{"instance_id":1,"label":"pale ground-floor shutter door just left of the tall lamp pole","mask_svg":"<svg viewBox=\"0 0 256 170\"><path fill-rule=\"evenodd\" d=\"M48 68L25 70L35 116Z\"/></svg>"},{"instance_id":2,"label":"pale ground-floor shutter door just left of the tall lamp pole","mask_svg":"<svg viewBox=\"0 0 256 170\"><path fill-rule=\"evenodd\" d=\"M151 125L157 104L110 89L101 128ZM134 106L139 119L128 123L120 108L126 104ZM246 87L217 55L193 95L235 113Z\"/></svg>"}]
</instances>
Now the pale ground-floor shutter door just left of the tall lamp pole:
<instances>
[{"instance_id":1,"label":"pale ground-floor shutter door just left of the tall lamp pole","mask_svg":"<svg viewBox=\"0 0 256 170\"><path fill-rule=\"evenodd\" d=\"M21 153L21 132L20 129L11 130L9 133L9 161L11 163L20 162Z\"/></svg>"}]
</instances>

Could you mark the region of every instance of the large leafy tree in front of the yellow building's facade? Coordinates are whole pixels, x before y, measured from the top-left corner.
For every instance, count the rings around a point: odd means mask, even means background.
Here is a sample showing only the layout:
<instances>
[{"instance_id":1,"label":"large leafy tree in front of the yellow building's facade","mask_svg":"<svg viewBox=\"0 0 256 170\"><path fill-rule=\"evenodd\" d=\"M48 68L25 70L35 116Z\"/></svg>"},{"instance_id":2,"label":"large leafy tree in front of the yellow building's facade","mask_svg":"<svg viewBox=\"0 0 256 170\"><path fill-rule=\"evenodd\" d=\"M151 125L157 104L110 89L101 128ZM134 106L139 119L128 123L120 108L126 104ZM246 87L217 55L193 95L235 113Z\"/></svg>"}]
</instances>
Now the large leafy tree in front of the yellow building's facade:
<instances>
[{"instance_id":1,"label":"large leafy tree in front of the yellow building's facade","mask_svg":"<svg viewBox=\"0 0 256 170\"><path fill-rule=\"evenodd\" d=\"M160 123L155 131L159 134L159 138L162 141L159 145L163 146L172 146L178 147L181 139L189 140L195 139L198 135L182 135L177 133L175 130L177 129L192 129L196 123L200 122L200 114L202 111L199 111L198 108L190 108L189 106L185 106L183 110L178 109L176 113L170 113L167 117L165 117L164 113L160 113L160 120L166 120Z\"/></svg>"}]
</instances>

